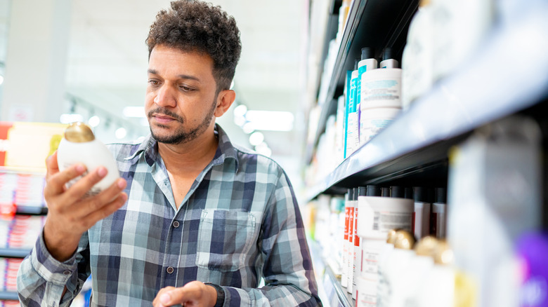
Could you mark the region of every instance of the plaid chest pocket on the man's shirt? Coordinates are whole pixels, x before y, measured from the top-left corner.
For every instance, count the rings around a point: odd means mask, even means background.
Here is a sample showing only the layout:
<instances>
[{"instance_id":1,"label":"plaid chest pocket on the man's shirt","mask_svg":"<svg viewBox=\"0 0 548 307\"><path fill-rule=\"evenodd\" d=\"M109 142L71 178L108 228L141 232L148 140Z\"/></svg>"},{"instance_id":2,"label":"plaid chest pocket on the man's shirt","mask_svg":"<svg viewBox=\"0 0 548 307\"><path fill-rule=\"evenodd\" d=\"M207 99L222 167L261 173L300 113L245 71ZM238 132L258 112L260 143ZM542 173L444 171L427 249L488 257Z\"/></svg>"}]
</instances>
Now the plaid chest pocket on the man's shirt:
<instances>
[{"instance_id":1,"label":"plaid chest pocket on the man's shirt","mask_svg":"<svg viewBox=\"0 0 548 307\"><path fill-rule=\"evenodd\" d=\"M254 214L204 210L198 228L196 265L221 272L237 271L256 244L259 223Z\"/></svg>"}]
</instances>

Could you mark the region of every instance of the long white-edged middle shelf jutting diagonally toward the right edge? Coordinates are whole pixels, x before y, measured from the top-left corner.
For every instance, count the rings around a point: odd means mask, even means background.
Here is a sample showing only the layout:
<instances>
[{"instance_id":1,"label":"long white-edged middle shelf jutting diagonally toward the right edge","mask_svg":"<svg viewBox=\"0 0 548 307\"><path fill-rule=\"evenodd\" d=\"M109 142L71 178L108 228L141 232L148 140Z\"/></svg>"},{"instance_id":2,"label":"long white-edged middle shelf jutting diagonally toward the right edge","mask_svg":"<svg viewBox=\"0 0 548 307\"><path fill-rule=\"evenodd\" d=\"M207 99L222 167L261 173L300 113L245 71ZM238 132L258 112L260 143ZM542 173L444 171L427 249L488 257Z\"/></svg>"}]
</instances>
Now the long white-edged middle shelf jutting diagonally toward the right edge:
<instances>
[{"instance_id":1,"label":"long white-edged middle shelf jutting diagonally toward the right edge","mask_svg":"<svg viewBox=\"0 0 548 307\"><path fill-rule=\"evenodd\" d=\"M386 130L311 186L307 198L325 191L341 193L356 182L381 182L443 168L448 149L467 132L542 102L548 93L548 57L542 51L548 49L546 37L545 20L495 29L467 67L438 82ZM518 53L521 56L514 57L512 65L500 68ZM534 63L528 62L531 58Z\"/></svg>"}]
</instances>

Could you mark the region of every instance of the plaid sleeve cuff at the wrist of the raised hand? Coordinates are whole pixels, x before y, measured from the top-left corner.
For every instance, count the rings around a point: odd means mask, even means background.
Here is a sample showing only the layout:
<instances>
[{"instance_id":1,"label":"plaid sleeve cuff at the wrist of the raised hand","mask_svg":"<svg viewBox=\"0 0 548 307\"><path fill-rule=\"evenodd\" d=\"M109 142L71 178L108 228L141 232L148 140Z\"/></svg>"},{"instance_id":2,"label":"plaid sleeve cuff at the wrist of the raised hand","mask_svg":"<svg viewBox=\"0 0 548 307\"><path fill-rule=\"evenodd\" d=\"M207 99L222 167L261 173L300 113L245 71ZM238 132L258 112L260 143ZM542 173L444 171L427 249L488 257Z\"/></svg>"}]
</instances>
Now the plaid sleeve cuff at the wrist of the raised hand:
<instances>
[{"instance_id":1,"label":"plaid sleeve cuff at the wrist of the raised hand","mask_svg":"<svg viewBox=\"0 0 548 307\"><path fill-rule=\"evenodd\" d=\"M40 233L39 239L30 255L32 268L38 272L41 278L53 285L65 286L72 275L77 272L76 252L70 259L60 262L53 258L44 243L44 231Z\"/></svg>"}]
</instances>

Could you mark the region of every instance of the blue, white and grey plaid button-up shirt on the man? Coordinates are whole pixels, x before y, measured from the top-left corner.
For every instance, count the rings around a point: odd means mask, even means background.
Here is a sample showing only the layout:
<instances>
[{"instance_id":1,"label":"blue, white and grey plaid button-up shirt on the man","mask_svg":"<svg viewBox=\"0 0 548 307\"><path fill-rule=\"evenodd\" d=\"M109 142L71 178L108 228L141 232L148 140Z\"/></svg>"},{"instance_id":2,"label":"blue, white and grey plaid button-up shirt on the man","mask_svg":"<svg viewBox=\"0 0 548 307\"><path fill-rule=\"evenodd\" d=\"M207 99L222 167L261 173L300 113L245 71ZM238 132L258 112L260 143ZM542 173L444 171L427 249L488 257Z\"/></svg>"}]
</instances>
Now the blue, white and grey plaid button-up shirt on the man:
<instances>
[{"instance_id":1,"label":"blue, white and grey plaid button-up shirt on the man","mask_svg":"<svg viewBox=\"0 0 548 307\"><path fill-rule=\"evenodd\" d=\"M178 210L155 139L111 144L128 201L63 263L40 236L18 273L22 305L69 306L90 273L91 306L151 306L159 289L193 280L221 285L225 306L320 305L287 175L236 149L218 125L216 135L213 160Z\"/></svg>"}]
</instances>

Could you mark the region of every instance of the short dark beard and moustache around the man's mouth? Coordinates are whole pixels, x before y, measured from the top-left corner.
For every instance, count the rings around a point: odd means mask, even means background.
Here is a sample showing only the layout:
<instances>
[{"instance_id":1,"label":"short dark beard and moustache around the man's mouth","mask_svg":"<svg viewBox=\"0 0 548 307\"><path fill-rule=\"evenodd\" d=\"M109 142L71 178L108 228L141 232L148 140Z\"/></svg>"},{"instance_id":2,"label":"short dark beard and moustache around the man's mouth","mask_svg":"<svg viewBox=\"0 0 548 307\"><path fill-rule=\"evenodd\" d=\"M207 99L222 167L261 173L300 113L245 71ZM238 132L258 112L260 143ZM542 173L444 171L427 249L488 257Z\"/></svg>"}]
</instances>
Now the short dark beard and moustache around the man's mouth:
<instances>
[{"instance_id":1,"label":"short dark beard and moustache around the man's mouth","mask_svg":"<svg viewBox=\"0 0 548 307\"><path fill-rule=\"evenodd\" d=\"M185 119L178 114L169 111L168 109L165 109L163 107L158 107L156 109L153 109L148 112L148 118L152 116L152 114L163 114L166 116L171 116L176 119L181 125L174 130L173 133L170 135L157 135L154 130L152 129L152 125L150 125L150 134L154 139L157 140L157 142L164 143L164 144L184 144L187 142L192 141L193 139L196 139L199 135L201 135L205 130L207 130L207 127L211 124L211 121L213 121L213 115L215 113L216 109L216 97L213 103L211 104L211 108L208 110L206 116L202 120L202 122L197 125L195 128L185 129L183 128L183 123L185 123ZM168 129L167 125L157 124L159 128Z\"/></svg>"}]
</instances>

